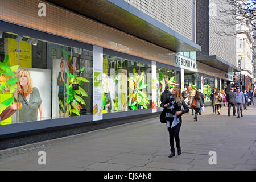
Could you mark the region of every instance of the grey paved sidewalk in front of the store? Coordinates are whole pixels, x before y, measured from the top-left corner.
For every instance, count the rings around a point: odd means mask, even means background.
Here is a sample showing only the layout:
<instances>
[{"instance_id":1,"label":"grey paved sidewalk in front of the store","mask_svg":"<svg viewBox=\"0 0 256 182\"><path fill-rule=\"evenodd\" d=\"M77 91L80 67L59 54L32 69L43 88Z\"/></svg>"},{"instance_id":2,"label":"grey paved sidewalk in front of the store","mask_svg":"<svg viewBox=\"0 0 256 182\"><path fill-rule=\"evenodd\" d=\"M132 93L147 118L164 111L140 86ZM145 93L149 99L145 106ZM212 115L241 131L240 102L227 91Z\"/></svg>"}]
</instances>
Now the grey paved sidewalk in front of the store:
<instances>
[{"instance_id":1,"label":"grey paved sidewalk in front of the store","mask_svg":"<svg viewBox=\"0 0 256 182\"><path fill-rule=\"evenodd\" d=\"M256 100L255 100L256 101ZM199 121L184 114L182 154L170 155L167 126L159 118L0 151L0 170L256 170L256 104L243 118L206 107ZM176 148L175 148L176 149ZM46 165L38 152L46 152ZM217 164L210 165L209 151Z\"/></svg>"}]
</instances>

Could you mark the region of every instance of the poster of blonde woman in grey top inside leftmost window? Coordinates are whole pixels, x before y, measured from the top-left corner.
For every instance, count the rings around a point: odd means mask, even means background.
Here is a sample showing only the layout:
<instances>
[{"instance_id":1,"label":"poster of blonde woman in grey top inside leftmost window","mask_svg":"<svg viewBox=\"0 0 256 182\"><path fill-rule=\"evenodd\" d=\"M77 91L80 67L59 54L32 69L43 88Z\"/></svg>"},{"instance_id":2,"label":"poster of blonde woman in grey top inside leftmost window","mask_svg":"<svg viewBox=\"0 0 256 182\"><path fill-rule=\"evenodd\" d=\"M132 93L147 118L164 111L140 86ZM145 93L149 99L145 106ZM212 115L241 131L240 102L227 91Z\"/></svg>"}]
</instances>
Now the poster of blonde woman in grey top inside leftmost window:
<instances>
[{"instance_id":1,"label":"poster of blonde woman in grey top inside leftmost window","mask_svg":"<svg viewBox=\"0 0 256 182\"><path fill-rule=\"evenodd\" d=\"M51 119L51 70L19 67L18 88L19 122Z\"/></svg>"}]
</instances>

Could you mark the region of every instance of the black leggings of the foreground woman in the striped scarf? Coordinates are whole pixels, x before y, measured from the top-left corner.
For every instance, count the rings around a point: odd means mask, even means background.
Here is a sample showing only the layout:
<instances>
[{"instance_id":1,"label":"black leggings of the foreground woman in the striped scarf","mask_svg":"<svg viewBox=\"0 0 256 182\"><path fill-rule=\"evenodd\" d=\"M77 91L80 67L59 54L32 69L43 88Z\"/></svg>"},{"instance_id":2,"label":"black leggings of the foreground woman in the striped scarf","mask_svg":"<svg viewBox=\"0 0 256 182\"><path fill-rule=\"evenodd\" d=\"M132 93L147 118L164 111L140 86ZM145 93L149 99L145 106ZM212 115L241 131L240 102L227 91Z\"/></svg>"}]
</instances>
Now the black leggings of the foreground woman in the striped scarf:
<instances>
[{"instance_id":1,"label":"black leggings of the foreground woman in the striped scarf","mask_svg":"<svg viewBox=\"0 0 256 182\"><path fill-rule=\"evenodd\" d=\"M173 121L173 119L174 118L172 118L172 121ZM174 152L174 139L175 139L175 142L176 142L176 147L180 148L179 133L180 133L180 127L181 127L182 119L180 117L180 122L176 126L174 126L173 128L171 128L172 121L170 121L170 127L168 127L168 131L169 131L169 140L170 140L171 151Z\"/></svg>"}]
</instances>

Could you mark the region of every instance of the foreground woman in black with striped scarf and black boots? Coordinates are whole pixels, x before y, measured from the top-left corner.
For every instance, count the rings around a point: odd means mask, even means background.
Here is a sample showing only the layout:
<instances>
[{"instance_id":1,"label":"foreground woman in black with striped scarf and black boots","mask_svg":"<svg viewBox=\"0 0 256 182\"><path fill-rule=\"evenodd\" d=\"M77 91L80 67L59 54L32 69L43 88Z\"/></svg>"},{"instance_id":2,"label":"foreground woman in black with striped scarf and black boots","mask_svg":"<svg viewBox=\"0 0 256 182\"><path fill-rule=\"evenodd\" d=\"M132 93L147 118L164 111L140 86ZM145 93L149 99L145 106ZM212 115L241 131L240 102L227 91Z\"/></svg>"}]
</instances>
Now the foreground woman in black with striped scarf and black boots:
<instances>
[{"instance_id":1,"label":"foreground woman in black with striped scarf and black boots","mask_svg":"<svg viewBox=\"0 0 256 182\"><path fill-rule=\"evenodd\" d=\"M183 106L183 110L181 110L181 106ZM164 107L167 107L166 121L169 131L169 142L171 146L171 154L168 157L171 158L175 156L174 139L176 142L177 154L181 154L179 138L179 132L182 123L181 116L182 114L188 113L189 111L188 106L185 104L183 97L181 96L181 90L179 86L176 86L174 90L172 90L172 94L169 97L169 104L165 104Z\"/></svg>"}]
</instances>

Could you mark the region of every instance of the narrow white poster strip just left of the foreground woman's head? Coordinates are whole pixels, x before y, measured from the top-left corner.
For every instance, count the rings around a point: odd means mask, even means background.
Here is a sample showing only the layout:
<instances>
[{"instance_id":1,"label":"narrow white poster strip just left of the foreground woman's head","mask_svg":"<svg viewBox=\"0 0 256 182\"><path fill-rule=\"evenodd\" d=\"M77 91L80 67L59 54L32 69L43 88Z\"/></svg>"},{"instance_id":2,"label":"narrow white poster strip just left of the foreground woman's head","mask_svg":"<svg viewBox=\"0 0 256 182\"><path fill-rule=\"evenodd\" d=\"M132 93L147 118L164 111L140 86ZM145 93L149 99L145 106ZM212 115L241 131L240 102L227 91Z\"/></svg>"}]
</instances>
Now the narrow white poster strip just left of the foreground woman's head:
<instances>
[{"instance_id":1,"label":"narrow white poster strip just left of the foreground woman's head","mask_svg":"<svg viewBox=\"0 0 256 182\"><path fill-rule=\"evenodd\" d=\"M157 111L156 109L156 61L152 61L152 113Z\"/></svg>"}]
</instances>

